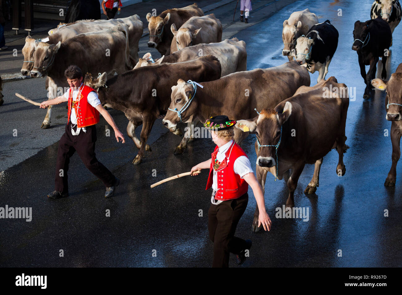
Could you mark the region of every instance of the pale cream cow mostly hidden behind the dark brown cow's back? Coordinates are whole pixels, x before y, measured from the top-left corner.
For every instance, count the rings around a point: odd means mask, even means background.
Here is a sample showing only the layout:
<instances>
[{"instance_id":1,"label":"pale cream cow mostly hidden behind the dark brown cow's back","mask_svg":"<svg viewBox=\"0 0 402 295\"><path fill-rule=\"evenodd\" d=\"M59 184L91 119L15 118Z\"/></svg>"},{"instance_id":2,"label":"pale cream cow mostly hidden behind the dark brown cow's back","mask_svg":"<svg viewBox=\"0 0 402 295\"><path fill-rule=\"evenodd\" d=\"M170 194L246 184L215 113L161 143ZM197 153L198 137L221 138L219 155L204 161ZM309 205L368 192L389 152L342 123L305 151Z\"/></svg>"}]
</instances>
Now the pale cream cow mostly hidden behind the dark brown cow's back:
<instances>
[{"instance_id":1,"label":"pale cream cow mostly hidden behind the dark brown cow's back","mask_svg":"<svg viewBox=\"0 0 402 295\"><path fill-rule=\"evenodd\" d=\"M246 43L237 38L226 39L219 43L198 44L176 51L168 56L156 59L153 63L151 53L146 53L135 67L156 65L158 63L179 63L191 61L203 55L213 55L222 65L222 77L234 72L246 71L247 51ZM161 61L161 59L163 59Z\"/></svg>"}]
</instances>

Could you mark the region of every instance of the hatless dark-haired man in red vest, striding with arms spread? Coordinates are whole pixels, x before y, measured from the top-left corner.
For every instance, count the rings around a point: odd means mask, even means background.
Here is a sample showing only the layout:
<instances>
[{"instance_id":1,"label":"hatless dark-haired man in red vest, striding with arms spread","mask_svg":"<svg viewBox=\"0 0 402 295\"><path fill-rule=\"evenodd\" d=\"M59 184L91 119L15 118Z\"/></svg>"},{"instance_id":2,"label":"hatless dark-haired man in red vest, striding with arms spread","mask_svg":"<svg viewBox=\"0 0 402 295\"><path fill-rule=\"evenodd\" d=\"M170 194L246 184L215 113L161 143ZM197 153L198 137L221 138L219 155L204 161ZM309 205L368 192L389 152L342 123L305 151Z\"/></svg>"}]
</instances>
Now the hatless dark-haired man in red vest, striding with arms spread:
<instances>
[{"instance_id":1,"label":"hatless dark-haired man in red vest, striding with arms spread","mask_svg":"<svg viewBox=\"0 0 402 295\"><path fill-rule=\"evenodd\" d=\"M119 185L119 179L95 157L96 123L99 122L99 113L112 126L117 142L121 138L124 143L124 136L109 112L100 104L96 91L83 85L81 69L76 65L70 65L64 75L70 89L62 96L42 102L40 106L40 108L47 108L50 105L68 101L68 124L60 138L57 150L55 190L47 197L51 199L68 197L68 164L75 152L78 153L86 168L103 181L106 186L105 197L111 197L115 187Z\"/></svg>"}]
</instances>

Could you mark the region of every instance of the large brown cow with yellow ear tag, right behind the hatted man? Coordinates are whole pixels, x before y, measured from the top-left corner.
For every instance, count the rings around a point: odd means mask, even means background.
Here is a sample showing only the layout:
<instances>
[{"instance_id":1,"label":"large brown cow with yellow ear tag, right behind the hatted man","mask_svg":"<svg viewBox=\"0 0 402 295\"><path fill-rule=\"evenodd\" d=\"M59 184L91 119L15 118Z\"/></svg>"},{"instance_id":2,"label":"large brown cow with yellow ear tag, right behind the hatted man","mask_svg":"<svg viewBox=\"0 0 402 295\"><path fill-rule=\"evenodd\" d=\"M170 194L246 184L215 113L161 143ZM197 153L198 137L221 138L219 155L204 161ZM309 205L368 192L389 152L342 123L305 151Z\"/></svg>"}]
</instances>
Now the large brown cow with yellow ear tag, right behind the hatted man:
<instances>
[{"instance_id":1,"label":"large brown cow with yellow ear tag, right behind the hatted man","mask_svg":"<svg viewBox=\"0 0 402 295\"><path fill-rule=\"evenodd\" d=\"M236 128L240 132L248 128L249 132L256 134L256 174L263 190L268 172L282 179L283 174L292 169L287 181L289 197L286 207L293 207L294 192L304 165L315 164L313 178L304 191L314 193L318 187L322 158L331 149L336 149L339 155L336 173L345 175L343 153L349 148L345 144L348 107L346 85L330 77L313 87L300 87L294 96L280 102L274 109L261 110L251 120L239 120ZM258 207L252 229L258 231Z\"/></svg>"}]
</instances>

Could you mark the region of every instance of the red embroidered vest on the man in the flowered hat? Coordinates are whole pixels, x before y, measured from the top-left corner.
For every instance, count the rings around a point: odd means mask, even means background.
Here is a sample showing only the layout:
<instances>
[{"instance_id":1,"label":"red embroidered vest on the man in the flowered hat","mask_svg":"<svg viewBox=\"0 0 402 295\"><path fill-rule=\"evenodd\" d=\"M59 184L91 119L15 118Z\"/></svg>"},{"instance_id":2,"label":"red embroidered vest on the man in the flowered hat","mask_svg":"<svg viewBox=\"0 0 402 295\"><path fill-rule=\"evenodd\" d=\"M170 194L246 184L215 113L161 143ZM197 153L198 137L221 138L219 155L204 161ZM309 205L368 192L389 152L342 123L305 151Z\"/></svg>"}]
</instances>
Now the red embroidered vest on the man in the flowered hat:
<instances>
[{"instance_id":1,"label":"red embroidered vest on the man in the flowered hat","mask_svg":"<svg viewBox=\"0 0 402 295\"><path fill-rule=\"evenodd\" d=\"M232 147L233 146L233 147ZM240 178L240 175L234 173L233 166L234 161L240 156L246 156L246 153L242 148L233 142L232 146L229 147L228 151L225 153L226 158L219 164L217 168L217 188L218 191L215 194L215 200L231 200L241 197L248 191L248 183ZM230 151L232 150L232 151ZM218 153L218 146L215 147L211 158L211 167L209 168L209 177L207 182L207 187L209 189L213 183L213 165L215 163L216 155ZM229 156L230 154L230 156ZM229 162L228 161L229 158Z\"/></svg>"}]
</instances>

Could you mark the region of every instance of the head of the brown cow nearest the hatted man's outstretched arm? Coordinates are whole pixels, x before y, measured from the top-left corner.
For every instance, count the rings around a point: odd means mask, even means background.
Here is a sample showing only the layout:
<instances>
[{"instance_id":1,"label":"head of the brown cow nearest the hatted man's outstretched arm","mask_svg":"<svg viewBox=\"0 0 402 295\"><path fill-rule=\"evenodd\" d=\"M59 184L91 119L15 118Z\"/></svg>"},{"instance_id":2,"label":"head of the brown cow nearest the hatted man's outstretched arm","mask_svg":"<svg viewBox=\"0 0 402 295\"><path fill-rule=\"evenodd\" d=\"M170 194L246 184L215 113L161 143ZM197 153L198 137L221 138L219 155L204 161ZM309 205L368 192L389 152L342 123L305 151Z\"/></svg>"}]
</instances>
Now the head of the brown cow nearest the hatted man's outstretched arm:
<instances>
[{"instance_id":1,"label":"head of the brown cow nearest the hatted man's outstretched arm","mask_svg":"<svg viewBox=\"0 0 402 295\"><path fill-rule=\"evenodd\" d=\"M264 109L258 116L251 120L238 120L236 128L244 130L246 126L250 133L255 133L257 137L256 164L260 167L274 167L276 164L276 148L279 140L281 140L282 125L289 119L292 114L292 104L285 103L283 113L279 114L273 109ZM260 147L258 149L258 143Z\"/></svg>"}]
</instances>

